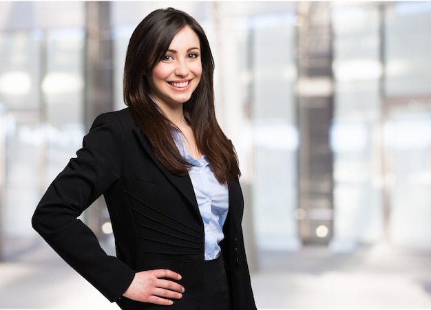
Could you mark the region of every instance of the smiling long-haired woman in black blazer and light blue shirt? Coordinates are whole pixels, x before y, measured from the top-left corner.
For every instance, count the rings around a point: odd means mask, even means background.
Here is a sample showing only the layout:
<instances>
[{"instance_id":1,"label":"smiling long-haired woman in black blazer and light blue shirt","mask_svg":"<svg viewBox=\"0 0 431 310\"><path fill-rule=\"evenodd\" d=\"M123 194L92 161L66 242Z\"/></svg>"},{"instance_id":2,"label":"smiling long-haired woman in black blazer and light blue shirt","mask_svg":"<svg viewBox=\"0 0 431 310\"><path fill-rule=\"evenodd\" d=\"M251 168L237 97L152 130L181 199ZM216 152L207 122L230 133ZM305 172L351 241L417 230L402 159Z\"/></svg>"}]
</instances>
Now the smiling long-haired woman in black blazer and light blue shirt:
<instances>
[{"instance_id":1,"label":"smiling long-haired woman in black blazer and light blue shirt","mask_svg":"<svg viewBox=\"0 0 431 310\"><path fill-rule=\"evenodd\" d=\"M152 12L127 49L128 108L96 118L34 212L34 229L122 309L256 309L240 170L213 97L202 27L172 8ZM100 195L116 257L77 219Z\"/></svg>"}]
</instances>

